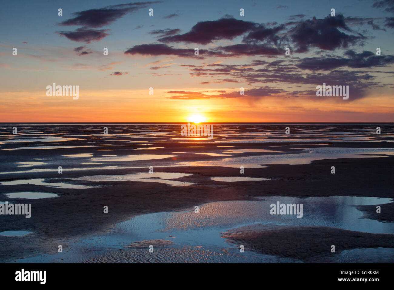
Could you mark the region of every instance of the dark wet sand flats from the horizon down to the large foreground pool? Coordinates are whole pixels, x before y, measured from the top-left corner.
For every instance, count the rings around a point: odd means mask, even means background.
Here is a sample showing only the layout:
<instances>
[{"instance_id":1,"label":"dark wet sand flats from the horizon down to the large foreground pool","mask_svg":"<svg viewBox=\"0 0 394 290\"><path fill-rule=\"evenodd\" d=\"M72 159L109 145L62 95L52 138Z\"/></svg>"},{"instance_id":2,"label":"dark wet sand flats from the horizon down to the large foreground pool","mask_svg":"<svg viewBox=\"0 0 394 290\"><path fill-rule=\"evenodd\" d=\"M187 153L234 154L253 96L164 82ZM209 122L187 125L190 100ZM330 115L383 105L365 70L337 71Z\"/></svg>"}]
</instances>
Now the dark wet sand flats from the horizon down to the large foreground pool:
<instances>
[{"instance_id":1,"label":"dark wet sand flats from the horizon down to the large foreground pool","mask_svg":"<svg viewBox=\"0 0 394 290\"><path fill-rule=\"evenodd\" d=\"M124 129L110 127L113 134L125 133ZM244 138L251 138L247 135L247 130L243 128L236 131L232 138L238 138L239 134L244 134ZM320 128L321 129L321 128ZM6 129L2 128L4 134ZM26 131L35 131L34 128L27 128ZM62 127L50 127L52 133L63 132ZM58 131L56 131L58 130ZM97 132L96 136L89 135L88 140L84 140L82 134L86 131ZM219 138L219 141L212 143L209 140L195 141L192 138L189 143L166 142L168 136L151 137L154 130L149 129L147 138L141 138L141 134L135 136L108 135L103 137L101 129L97 126L75 126L66 133L58 133L59 137L67 137L67 141L59 142L4 142L0 144L1 172L15 172L30 170L21 173L0 174L0 182L20 179L44 179L48 183L69 183L81 186L91 186L90 188L72 189L61 187L38 186L34 184L0 184L0 200L8 200L13 203L31 203L32 217L26 219L18 215L2 215L1 230L26 230L32 234L20 237L0 236L0 261L13 261L20 257L32 257L38 254L57 253L58 245L63 245L63 249L71 247L75 239L83 238L87 235L99 235L108 232L114 224L125 221L137 215L145 213L155 213L162 211L181 211L186 208L194 209L195 205L207 202L226 200L253 200L255 196L374 196L392 198L393 174L391 168L394 166L394 157L377 158L346 158L346 159L326 159L312 161L310 164L301 165L268 165L267 167L245 168L245 174L240 174L240 168L219 167L219 166L174 166L179 163L194 161L220 161L226 156L210 156L196 153L222 153L221 150L273 150L284 153L265 152L264 155L286 154L289 152L302 153L300 149L292 149L300 144L300 148L319 148L322 145L308 144L308 140L297 139L296 134L288 136L289 143L281 142L227 142L227 137ZM148 130L148 131L149 131ZM322 129L321 129L322 130ZM334 129L327 129L327 132ZM335 129L338 130L338 129ZM334 131L335 131L334 130ZM42 130L44 131L44 130ZM165 128L163 129L165 131ZM129 131L128 131L129 132ZM168 130L169 134L171 130ZM23 131L21 130L21 133ZM32 133L32 132L30 132ZM33 132L34 133L34 132ZM37 132L36 134L40 134ZM73 135L76 135L73 137ZM171 134L170 134L171 135ZM245 137L246 136L246 137ZM27 138L20 137L18 138ZM179 137L175 135L175 137ZM7 137L7 138L16 138ZM69 140L73 138L72 140ZM80 139L78 139L80 138ZM241 137L239 137L241 138ZM305 137L315 138L314 136ZM373 138L377 138L373 136ZM380 138L380 137L379 137ZM391 137L382 135L379 142L318 142L328 145L324 147L338 148L394 148L393 142L388 142ZM75 140L76 139L76 140ZM223 140L223 142L220 142ZM294 142L293 142L294 141ZM133 143L138 142L138 143ZM0 142L1 143L1 142ZM61 149L31 149L33 146L62 146ZM71 146L71 147L64 147ZM78 146L78 147L77 147ZM81 147L93 146L93 147ZM232 146L220 148L220 146ZM6 150L12 148L26 147L25 150ZM138 148L156 148L140 150ZM137 150L136 150L137 149ZM113 151L98 151L113 150ZM187 152L177 153L174 152ZM93 153L93 154L92 154ZM79 155L76 155L79 154ZM87 155L80 155L87 154ZM94 161L99 165L80 165L86 163L91 158L106 158L104 155L176 155L156 160L122 161ZM81 157L69 157L81 156ZM91 157L93 155L93 157ZM237 157L258 156L259 152L237 153ZM82 157L85 156L85 157ZM34 159L36 164L32 167L17 167L25 165ZM116 159L115 159L116 160ZM17 163L17 164L14 164ZM76 165L77 164L77 165ZM264 162L261 162L264 164ZM28 164L29 165L29 164ZM139 174L147 173L149 166L154 166L154 172L174 172L190 174L176 181L193 183L188 186L170 186L169 184L147 181L106 181L105 183L76 180L82 176L97 176L102 174ZM172 166L171 166L172 165ZM58 166L63 166L63 174L58 174ZM118 166L108 168L105 166ZM161 167L163 166L163 167ZM165 167L164 167L165 166ZM336 167L336 174L330 174L331 166ZM16 169L17 168L17 169ZM49 168L48 171L34 171ZM72 168L83 168L83 171L72 170ZM103 173L105 172L105 173ZM237 181L225 182L214 181L212 177L249 177L264 178L269 180L259 181ZM152 174L154 178L154 174ZM92 187L100 186L100 187ZM8 198L6 193L17 192L37 192L52 193L58 197L45 199L19 199ZM103 207L108 206L108 213L103 213ZM372 209L371 209L372 208ZM393 211L391 205L382 205L382 213L378 220L392 221ZM362 210L370 213L368 218L376 219L372 211L376 206L363 206Z\"/></svg>"}]
</instances>

